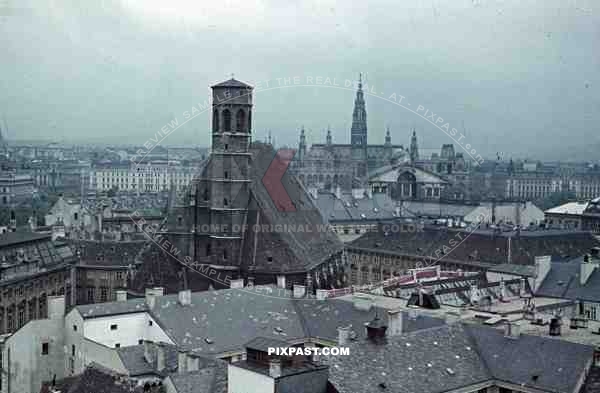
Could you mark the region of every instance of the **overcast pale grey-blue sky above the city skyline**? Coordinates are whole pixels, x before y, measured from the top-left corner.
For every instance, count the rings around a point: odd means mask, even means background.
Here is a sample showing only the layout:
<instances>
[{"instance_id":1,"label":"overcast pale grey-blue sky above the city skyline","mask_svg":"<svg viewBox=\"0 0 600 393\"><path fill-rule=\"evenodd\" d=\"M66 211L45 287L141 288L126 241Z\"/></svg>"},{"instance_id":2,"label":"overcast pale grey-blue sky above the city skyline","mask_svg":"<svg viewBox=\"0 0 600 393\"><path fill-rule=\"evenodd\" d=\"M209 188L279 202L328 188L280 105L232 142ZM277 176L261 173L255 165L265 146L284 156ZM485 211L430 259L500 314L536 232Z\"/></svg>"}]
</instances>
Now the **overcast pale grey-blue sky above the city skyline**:
<instances>
[{"instance_id":1,"label":"overcast pale grey-blue sky above the city skyline","mask_svg":"<svg viewBox=\"0 0 600 393\"><path fill-rule=\"evenodd\" d=\"M98 3L98 4L96 4ZM256 84L366 74L369 138L452 140L386 99L464 122L484 155L597 160L597 0L4 0L0 115L10 139L142 144L229 78ZM264 89L254 130L348 143L354 92ZM209 116L166 140L208 145ZM596 155L594 155L596 153Z\"/></svg>"}]
</instances>

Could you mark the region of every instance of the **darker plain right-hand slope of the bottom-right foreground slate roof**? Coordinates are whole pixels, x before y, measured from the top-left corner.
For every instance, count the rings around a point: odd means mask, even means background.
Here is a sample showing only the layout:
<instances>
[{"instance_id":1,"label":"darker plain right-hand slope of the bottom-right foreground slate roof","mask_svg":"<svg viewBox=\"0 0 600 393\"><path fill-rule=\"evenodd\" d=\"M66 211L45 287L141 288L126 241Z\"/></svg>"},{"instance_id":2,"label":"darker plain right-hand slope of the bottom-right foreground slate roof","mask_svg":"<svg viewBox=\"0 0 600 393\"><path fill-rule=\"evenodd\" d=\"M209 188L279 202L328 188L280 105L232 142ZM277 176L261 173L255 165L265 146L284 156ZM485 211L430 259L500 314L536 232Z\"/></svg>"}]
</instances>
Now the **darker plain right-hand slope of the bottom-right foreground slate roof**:
<instances>
[{"instance_id":1,"label":"darker plain right-hand slope of the bottom-right foreground slate roof","mask_svg":"<svg viewBox=\"0 0 600 393\"><path fill-rule=\"evenodd\" d=\"M573 392L594 348L548 337L504 337L502 330L465 325L493 377L550 392Z\"/></svg>"}]
</instances>

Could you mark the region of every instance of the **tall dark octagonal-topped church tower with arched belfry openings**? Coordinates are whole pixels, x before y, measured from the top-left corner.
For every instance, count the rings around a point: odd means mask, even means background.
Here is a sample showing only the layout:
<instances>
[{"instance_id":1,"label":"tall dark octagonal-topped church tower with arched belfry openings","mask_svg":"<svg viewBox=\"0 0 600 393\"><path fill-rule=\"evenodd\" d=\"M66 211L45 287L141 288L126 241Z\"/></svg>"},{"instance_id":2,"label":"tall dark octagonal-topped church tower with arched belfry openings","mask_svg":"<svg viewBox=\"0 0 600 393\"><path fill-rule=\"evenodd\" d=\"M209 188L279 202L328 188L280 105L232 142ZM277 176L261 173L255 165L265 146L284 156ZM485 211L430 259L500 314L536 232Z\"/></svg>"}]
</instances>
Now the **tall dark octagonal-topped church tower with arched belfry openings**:
<instances>
[{"instance_id":1,"label":"tall dark octagonal-topped church tower with arched belfry openings","mask_svg":"<svg viewBox=\"0 0 600 393\"><path fill-rule=\"evenodd\" d=\"M199 229L208 237L205 255L217 265L239 262L251 182L252 90L233 78L212 86L212 152L204 191L209 222Z\"/></svg>"}]
</instances>

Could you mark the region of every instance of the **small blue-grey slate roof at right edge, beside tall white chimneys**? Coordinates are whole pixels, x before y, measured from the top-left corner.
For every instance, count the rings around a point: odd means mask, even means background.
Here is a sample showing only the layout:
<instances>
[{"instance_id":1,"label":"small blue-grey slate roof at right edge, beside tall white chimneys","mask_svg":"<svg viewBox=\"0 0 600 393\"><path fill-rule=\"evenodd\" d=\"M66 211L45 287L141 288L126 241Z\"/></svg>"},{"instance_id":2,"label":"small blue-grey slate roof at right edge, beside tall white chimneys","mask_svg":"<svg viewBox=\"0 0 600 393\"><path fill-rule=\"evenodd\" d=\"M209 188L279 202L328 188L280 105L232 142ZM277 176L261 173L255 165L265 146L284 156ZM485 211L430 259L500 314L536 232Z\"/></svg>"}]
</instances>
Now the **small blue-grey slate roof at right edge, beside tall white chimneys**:
<instances>
[{"instance_id":1,"label":"small blue-grey slate roof at right edge, beside tall white chimneys","mask_svg":"<svg viewBox=\"0 0 600 393\"><path fill-rule=\"evenodd\" d=\"M584 285L579 280L582 258L552 262L536 296L600 302L600 269L596 268Z\"/></svg>"}]
</instances>

